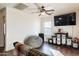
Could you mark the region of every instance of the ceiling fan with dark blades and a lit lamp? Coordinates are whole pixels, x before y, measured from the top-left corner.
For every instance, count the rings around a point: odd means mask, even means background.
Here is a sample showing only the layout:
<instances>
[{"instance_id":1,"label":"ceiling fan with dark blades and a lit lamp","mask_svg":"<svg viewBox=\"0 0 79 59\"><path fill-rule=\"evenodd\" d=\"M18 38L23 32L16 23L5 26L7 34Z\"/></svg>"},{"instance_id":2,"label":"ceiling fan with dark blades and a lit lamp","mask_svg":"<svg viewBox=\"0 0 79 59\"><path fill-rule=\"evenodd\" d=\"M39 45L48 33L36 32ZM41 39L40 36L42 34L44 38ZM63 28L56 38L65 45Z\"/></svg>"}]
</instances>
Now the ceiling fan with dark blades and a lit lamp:
<instances>
[{"instance_id":1,"label":"ceiling fan with dark blades and a lit lamp","mask_svg":"<svg viewBox=\"0 0 79 59\"><path fill-rule=\"evenodd\" d=\"M45 6L39 6L37 3L34 3L37 8L38 8L38 12L33 12L33 13L40 13L39 16L41 15L44 15L44 14L47 14L47 15L52 15L53 14L53 11L55 11L54 9L50 9L50 10L46 10L45 9Z\"/></svg>"}]
</instances>

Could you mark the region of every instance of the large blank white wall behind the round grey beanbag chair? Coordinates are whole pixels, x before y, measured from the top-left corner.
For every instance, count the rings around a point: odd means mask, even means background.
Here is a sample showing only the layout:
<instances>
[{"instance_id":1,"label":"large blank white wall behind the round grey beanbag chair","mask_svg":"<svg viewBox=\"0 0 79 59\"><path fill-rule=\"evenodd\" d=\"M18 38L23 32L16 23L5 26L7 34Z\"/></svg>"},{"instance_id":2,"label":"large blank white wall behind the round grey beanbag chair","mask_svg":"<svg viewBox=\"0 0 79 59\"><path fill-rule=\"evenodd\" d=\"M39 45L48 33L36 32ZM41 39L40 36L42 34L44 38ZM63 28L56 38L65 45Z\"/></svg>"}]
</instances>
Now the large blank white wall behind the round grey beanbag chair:
<instances>
[{"instance_id":1,"label":"large blank white wall behind the round grey beanbag chair","mask_svg":"<svg viewBox=\"0 0 79 59\"><path fill-rule=\"evenodd\" d=\"M24 41L25 37L38 35L40 18L38 15L6 8L6 50L13 49L13 42Z\"/></svg>"}]
</instances>

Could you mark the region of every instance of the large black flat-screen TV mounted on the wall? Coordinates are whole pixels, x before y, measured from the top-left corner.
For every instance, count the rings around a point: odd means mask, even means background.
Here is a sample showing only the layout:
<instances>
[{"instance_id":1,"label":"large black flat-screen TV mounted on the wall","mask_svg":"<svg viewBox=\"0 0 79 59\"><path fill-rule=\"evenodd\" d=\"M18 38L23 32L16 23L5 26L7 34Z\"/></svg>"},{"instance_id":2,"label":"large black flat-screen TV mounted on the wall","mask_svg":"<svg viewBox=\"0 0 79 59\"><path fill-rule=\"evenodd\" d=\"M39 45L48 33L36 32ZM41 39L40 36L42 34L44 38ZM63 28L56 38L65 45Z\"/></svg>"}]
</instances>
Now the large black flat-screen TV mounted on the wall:
<instances>
[{"instance_id":1,"label":"large black flat-screen TV mounted on the wall","mask_svg":"<svg viewBox=\"0 0 79 59\"><path fill-rule=\"evenodd\" d=\"M76 25L76 12L54 16L55 26Z\"/></svg>"}]
</instances>

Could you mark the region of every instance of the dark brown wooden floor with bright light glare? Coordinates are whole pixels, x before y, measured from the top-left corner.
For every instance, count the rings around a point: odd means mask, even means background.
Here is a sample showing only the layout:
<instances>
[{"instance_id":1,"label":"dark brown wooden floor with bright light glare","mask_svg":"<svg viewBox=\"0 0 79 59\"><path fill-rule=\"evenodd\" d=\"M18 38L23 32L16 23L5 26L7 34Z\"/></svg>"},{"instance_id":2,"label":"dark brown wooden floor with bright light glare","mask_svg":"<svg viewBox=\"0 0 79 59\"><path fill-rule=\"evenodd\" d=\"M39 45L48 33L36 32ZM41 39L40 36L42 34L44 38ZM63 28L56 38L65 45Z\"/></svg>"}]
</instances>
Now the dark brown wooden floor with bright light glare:
<instances>
[{"instance_id":1,"label":"dark brown wooden floor with bright light glare","mask_svg":"<svg viewBox=\"0 0 79 59\"><path fill-rule=\"evenodd\" d=\"M68 47L62 47L62 46L57 46L57 45L53 45L53 44L48 44L48 43L44 43L41 48L39 48L38 50L53 56L53 53L51 53L50 49L53 50L58 50L60 51L64 56L79 56L79 50L78 49L74 49L74 48L68 48ZM7 54L7 56L16 56L14 55L15 50L11 50L9 51Z\"/></svg>"}]
</instances>

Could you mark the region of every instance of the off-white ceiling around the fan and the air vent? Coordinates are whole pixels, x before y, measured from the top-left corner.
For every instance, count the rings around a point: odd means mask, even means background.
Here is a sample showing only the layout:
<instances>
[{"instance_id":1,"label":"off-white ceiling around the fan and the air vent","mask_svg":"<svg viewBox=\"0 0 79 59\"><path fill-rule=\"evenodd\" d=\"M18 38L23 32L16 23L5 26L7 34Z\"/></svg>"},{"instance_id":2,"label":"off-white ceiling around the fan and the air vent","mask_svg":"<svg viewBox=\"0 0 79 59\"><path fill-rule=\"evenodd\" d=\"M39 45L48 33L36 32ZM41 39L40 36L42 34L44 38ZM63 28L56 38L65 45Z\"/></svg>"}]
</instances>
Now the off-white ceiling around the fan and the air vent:
<instances>
[{"instance_id":1,"label":"off-white ceiling around the fan and the air vent","mask_svg":"<svg viewBox=\"0 0 79 59\"><path fill-rule=\"evenodd\" d=\"M15 7L18 3L0 3L0 9L3 7ZM26 8L23 11L34 11L36 12L37 7L34 3L23 3L26 6L28 6L28 8ZM64 11L73 11L73 10L79 10L79 3L38 3L38 5L41 7L42 5L45 6L46 9L54 9L55 13L58 12L64 12Z\"/></svg>"}]
</instances>

